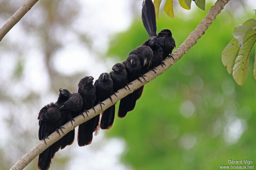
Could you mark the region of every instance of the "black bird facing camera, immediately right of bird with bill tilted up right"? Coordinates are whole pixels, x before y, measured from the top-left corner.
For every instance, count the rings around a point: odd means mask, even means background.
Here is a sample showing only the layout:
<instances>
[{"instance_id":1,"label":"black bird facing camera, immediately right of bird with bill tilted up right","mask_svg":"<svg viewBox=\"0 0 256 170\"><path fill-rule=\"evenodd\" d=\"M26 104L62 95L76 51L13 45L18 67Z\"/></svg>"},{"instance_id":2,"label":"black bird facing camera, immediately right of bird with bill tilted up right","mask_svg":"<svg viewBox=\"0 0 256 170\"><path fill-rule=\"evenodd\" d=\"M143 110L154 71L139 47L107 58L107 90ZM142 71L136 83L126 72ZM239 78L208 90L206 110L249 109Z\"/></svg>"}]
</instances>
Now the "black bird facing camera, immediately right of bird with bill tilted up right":
<instances>
[{"instance_id":1,"label":"black bird facing camera, immediately right of bird with bill tilted up right","mask_svg":"<svg viewBox=\"0 0 256 170\"><path fill-rule=\"evenodd\" d=\"M108 73L100 74L100 77L95 81L94 86L96 88L96 104L99 101L101 106L101 101L106 100L113 94L113 80L111 79ZM113 125L115 118L115 105L107 108L101 116L100 119L100 128L101 129L110 129Z\"/></svg>"}]
</instances>

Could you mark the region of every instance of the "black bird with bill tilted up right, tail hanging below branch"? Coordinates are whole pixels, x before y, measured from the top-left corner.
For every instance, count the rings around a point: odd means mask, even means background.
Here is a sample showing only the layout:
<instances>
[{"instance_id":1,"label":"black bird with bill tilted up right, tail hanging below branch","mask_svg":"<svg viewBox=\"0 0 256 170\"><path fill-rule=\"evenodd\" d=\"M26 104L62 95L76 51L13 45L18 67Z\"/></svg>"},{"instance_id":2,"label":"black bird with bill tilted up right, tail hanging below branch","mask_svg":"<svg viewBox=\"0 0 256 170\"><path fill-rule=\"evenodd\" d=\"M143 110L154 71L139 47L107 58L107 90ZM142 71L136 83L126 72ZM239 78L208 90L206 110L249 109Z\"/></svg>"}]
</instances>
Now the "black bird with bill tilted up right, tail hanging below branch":
<instances>
[{"instance_id":1,"label":"black bird with bill tilted up right, tail hanging below branch","mask_svg":"<svg viewBox=\"0 0 256 170\"><path fill-rule=\"evenodd\" d=\"M78 93L83 97L83 107L86 114L88 112L87 110L93 107L96 99L96 89L92 81L92 76L86 76L78 83ZM100 115L97 115L78 126L77 142L79 146L92 143L93 132L97 129L99 120Z\"/></svg>"}]
</instances>

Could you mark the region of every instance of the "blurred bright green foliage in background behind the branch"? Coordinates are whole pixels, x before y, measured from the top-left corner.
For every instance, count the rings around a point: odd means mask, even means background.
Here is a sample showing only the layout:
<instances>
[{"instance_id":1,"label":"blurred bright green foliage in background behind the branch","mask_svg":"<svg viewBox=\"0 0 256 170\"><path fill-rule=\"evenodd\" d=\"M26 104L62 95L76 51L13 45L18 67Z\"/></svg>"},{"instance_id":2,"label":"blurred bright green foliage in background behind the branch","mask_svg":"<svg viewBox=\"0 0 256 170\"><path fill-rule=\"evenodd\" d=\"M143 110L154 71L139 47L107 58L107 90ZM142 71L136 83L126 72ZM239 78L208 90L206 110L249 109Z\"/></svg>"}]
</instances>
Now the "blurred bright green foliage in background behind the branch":
<instances>
[{"instance_id":1,"label":"blurred bright green foliage in background behind the branch","mask_svg":"<svg viewBox=\"0 0 256 170\"><path fill-rule=\"evenodd\" d=\"M190 12L186 19L162 15L157 20L158 32L170 29L178 47L207 13L199 9ZM123 119L116 116L106 132L109 137L125 139L124 163L140 170L190 170L219 169L229 165L229 159L256 162L254 52L243 86L235 83L221 63L234 26L253 15L237 18L221 12L187 54L145 85L132 112ZM113 38L108 55L124 61L148 38L138 18Z\"/></svg>"}]
</instances>

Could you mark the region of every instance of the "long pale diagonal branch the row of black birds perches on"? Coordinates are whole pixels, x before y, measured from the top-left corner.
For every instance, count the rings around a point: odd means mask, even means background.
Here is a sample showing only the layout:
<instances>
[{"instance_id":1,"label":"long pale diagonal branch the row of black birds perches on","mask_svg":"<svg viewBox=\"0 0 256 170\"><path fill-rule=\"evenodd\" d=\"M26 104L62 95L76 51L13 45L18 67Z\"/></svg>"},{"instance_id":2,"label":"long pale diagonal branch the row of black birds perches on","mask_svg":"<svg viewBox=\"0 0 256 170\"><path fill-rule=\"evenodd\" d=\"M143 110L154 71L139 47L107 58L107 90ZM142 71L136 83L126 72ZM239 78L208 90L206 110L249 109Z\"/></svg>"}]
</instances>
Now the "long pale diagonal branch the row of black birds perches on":
<instances>
[{"instance_id":1,"label":"long pale diagonal branch the row of black birds perches on","mask_svg":"<svg viewBox=\"0 0 256 170\"><path fill-rule=\"evenodd\" d=\"M138 89L142 85L145 85L149 81L153 80L160 74L163 74L165 70L170 68L174 63L176 63L188 50L196 44L197 40L202 37L202 35L205 33L207 28L212 24L212 21L216 18L216 16L220 13L220 11L223 9L223 7L228 3L229 0L217 0L217 2L214 4L214 6L211 7L207 15L204 17L201 23L198 24L196 29L192 31L189 35L188 38L178 47L173 53L172 56L174 57L175 60L172 58L168 57L167 59L164 60L164 63L166 66L157 66L156 67L156 73L154 71L150 70L148 71L145 75L146 80L143 80L143 84L139 80L134 80L132 82L132 85L129 85L131 91L120 89L118 90L117 97L115 95L112 95L113 103L116 103L118 100L124 98L128 94L132 93L134 90ZM110 99L104 100L103 103L105 106L102 107L103 111L106 110L108 107L112 106L113 104L111 103ZM70 130L74 129L76 126L80 125L83 122L86 122L87 120L91 119L92 117L100 114L102 112L100 105L98 104L95 106L96 113L93 111L93 109L89 110L89 114L87 117L86 114L84 113L85 119L82 115L78 115L75 117L75 122L73 123L73 126L71 122L69 121L66 123L63 127L63 132L67 134ZM47 147L52 145L54 142L58 141L61 137L64 135L59 134L57 132L53 132L50 136L49 139L46 140L47 145L44 143L44 141L39 142L36 146L34 146L26 155L24 155L14 166L12 166L11 170L21 170L25 166L28 165L29 162L31 162L33 159L36 158L37 155L42 153Z\"/></svg>"}]
</instances>

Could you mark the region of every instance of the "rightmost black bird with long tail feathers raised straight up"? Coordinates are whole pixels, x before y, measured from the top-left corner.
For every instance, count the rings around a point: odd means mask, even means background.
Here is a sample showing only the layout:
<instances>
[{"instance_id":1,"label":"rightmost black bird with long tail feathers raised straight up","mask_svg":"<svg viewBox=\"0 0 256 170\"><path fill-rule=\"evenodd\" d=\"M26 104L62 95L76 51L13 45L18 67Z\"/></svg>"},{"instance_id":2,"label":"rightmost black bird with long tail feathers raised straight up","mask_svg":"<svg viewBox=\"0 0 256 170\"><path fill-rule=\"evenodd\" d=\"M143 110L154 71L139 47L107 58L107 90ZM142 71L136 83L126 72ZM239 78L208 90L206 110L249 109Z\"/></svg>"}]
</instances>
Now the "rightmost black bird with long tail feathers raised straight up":
<instances>
[{"instance_id":1,"label":"rightmost black bird with long tail feathers raised straight up","mask_svg":"<svg viewBox=\"0 0 256 170\"><path fill-rule=\"evenodd\" d=\"M163 66L164 63L162 63L162 61L170 56L173 48L176 47L175 41L172 38L172 32L168 29L164 29L160 31L160 33L156 33L156 13L152 0L143 1L141 18L150 37L150 39L145 41L142 45L149 46L154 52L152 67L156 67L159 64Z\"/></svg>"}]
</instances>

